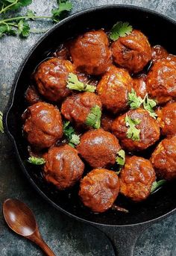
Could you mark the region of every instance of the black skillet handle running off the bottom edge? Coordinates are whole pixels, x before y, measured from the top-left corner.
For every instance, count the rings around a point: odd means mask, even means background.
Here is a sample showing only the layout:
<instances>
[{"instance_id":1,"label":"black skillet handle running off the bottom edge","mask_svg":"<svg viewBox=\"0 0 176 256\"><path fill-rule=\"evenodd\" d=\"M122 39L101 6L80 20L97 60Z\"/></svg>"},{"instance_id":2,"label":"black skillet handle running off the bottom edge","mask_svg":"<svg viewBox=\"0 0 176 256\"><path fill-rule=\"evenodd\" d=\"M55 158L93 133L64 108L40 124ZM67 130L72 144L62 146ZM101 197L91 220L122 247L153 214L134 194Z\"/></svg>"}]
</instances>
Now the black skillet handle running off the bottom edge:
<instances>
[{"instance_id":1,"label":"black skillet handle running off the bottom edge","mask_svg":"<svg viewBox=\"0 0 176 256\"><path fill-rule=\"evenodd\" d=\"M133 249L138 237L151 224L139 224L130 226L106 226L95 225L110 239L115 255L118 256L133 256Z\"/></svg>"}]
</instances>

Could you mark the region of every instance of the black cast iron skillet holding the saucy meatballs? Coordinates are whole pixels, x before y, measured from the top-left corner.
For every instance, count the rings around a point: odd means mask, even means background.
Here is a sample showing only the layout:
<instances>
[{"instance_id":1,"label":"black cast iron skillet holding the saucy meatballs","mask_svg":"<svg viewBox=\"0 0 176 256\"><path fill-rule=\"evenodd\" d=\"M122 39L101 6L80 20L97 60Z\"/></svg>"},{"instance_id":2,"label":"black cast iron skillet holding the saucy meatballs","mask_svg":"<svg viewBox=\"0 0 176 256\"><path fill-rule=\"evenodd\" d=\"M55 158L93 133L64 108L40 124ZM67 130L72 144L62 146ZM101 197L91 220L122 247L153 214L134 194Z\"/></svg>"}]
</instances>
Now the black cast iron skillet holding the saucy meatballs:
<instances>
[{"instance_id":1,"label":"black cast iron skillet holding the saucy meatballs","mask_svg":"<svg viewBox=\"0 0 176 256\"><path fill-rule=\"evenodd\" d=\"M45 184L39 169L34 169L34 166L26 162L28 151L22 137L21 121L22 112L26 107L24 93L37 64L69 37L75 37L91 28L110 29L118 20L128 21L133 28L140 29L148 36L152 45L160 44L170 53L176 54L176 22L154 11L127 5L110 5L95 7L69 16L46 32L23 60L13 82L10 102L4 114L4 128L13 142L22 171L37 192L63 213L104 231L113 240L115 251L120 256L129 256L133 255L136 238L151 222L175 211L175 182L166 185L142 203L134 204L119 197L119 205L127 207L130 210L128 214L113 210L101 214L90 213L78 199L78 186L65 192L57 191Z\"/></svg>"}]
</instances>

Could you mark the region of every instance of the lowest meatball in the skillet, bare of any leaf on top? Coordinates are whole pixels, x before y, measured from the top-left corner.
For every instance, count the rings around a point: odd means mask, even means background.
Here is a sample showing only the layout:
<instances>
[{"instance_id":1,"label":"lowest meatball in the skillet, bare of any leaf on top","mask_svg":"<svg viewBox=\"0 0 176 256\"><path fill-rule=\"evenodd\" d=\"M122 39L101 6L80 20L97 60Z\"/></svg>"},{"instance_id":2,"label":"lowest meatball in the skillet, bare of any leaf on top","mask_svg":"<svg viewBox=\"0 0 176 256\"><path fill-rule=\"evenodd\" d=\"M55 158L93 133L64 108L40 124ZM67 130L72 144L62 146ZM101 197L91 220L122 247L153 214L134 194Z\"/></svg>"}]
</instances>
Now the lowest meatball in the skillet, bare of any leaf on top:
<instances>
[{"instance_id":1,"label":"lowest meatball in the skillet, bare of any leaf on top","mask_svg":"<svg viewBox=\"0 0 176 256\"><path fill-rule=\"evenodd\" d=\"M79 196L92 211L103 213L119 194L119 178L108 169L93 169L81 181Z\"/></svg>"}]
</instances>

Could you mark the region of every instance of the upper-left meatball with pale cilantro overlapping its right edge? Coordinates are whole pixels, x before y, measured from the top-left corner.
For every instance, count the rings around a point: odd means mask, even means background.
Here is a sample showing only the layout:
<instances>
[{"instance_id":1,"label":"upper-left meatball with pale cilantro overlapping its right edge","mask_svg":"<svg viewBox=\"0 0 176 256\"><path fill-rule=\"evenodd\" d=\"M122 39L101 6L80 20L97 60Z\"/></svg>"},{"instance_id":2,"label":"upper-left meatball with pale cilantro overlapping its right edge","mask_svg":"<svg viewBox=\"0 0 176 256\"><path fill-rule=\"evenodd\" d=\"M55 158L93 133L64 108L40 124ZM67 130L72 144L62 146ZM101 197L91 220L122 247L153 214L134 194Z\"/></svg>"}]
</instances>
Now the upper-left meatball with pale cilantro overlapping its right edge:
<instances>
[{"instance_id":1,"label":"upper-left meatball with pale cilantro overlapping its right edge","mask_svg":"<svg viewBox=\"0 0 176 256\"><path fill-rule=\"evenodd\" d=\"M75 72L69 60L50 58L41 63L34 74L39 92L45 99L58 102L71 93L66 85L69 72Z\"/></svg>"}]
</instances>

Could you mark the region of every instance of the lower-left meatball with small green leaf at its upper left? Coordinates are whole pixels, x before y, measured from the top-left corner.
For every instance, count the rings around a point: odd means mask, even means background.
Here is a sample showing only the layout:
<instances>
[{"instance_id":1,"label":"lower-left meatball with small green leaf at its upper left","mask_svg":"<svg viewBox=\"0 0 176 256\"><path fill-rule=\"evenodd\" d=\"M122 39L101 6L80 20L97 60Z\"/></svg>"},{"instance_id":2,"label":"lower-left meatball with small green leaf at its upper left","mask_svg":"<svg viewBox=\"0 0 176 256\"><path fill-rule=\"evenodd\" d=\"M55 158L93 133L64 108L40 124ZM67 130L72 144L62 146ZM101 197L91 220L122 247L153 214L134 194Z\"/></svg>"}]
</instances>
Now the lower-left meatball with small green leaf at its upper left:
<instances>
[{"instance_id":1,"label":"lower-left meatball with small green leaf at its upper left","mask_svg":"<svg viewBox=\"0 0 176 256\"><path fill-rule=\"evenodd\" d=\"M54 184L59 190L72 187L81 179L84 163L72 146L64 145L48 150L44 155L45 180Z\"/></svg>"}]
</instances>

